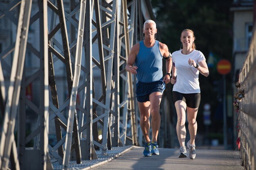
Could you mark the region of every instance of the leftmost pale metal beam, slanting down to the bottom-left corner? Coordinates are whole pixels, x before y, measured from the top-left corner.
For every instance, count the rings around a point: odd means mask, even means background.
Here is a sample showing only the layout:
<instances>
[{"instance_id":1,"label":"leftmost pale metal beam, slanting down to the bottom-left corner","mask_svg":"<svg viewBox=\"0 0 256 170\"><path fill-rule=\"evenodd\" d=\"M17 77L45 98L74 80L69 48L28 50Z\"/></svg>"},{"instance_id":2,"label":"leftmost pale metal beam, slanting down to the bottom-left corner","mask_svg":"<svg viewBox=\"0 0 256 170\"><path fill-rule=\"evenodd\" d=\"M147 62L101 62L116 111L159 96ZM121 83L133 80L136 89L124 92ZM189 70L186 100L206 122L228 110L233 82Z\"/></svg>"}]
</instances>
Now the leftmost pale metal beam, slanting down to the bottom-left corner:
<instances>
[{"instance_id":1,"label":"leftmost pale metal beam, slanting down to the bottom-left corner","mask_svg":"<svg viewBox=\"0 0 256 170\"><path fill-rule=\"evenodd\" d=\"M18 109L21 79L25 63L25 51L27 46L27 34L29 28L31 3L31 0L22 0L20 3L20 14L18 18L16 44L13 54L10 85L4 110L3 131L0 141L1 169L7 169L11 150L13 152L13 163L15 164L12 166L15 167L15 169L20 168L18 163L16 144L14 140L14 127Z\"/></svg>"}]
</instances>

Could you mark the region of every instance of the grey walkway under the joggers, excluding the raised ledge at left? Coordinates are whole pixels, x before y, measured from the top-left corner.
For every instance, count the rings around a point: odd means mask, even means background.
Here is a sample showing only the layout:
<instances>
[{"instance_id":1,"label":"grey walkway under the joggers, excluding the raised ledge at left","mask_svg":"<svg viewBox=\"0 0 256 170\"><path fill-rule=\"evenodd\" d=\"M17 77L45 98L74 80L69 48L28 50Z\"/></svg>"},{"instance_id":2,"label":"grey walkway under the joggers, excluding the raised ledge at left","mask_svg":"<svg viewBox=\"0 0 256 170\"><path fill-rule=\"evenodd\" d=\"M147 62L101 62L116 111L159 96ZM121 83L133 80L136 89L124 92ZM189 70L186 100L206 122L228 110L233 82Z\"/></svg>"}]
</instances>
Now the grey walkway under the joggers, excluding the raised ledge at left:
<instances>
[{"instance_id":1,"label":"grey walkway under the joggers, excluding the raised ledge at left","mask_svg":"<svg viewBox=\"0 0 256 170\"><path fill-rule=\"evenodd\" d=\"M196 158L178 158L178 149L159 148L160 155L144 157L144 148L131 150L94 170L244 170L240 151L196 149Z\"/></svg>"}]
</instances>

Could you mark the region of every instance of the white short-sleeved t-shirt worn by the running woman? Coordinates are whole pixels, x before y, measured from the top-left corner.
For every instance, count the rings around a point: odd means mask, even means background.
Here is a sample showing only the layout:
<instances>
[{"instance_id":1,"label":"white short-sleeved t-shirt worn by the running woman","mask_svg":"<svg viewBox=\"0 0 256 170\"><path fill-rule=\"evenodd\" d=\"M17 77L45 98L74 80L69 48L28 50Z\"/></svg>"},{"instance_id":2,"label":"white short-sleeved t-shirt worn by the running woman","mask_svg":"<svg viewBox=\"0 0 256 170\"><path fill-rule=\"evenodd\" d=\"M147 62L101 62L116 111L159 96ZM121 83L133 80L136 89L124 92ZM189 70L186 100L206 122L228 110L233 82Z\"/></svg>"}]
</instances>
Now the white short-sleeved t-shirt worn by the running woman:
<instances>
[{"instance_id":1,"label":"white short-sleeved t-shirt worn by the running woman","mask_svg":"<svg viewBox=\"0 0 256 170\"><path fill-rule=\"evenodd\" d=\"M182 54L181 50L172 54L173 63L177 72L176 83L173 85L173 91L190 94L200 93L199 71L197 68L189 65L189 59L196 63L205 60L204 54L198 50L193 50L190 54Z\"/></svg>"}]
</instances>

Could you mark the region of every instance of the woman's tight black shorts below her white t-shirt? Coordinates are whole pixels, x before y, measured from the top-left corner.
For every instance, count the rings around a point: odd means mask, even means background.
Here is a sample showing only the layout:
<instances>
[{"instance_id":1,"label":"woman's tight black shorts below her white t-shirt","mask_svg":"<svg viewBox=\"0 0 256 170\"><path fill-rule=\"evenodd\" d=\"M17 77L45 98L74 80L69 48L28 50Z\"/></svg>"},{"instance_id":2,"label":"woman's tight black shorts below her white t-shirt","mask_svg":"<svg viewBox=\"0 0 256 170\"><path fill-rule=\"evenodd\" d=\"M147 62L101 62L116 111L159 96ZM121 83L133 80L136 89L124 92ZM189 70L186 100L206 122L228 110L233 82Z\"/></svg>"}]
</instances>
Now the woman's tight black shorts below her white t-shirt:
<instances>
[{"instance_id":1,"label":"woman's tight black shorts below her white t-shirt","mask_svg":"<svg viewBox=\"0 0 256 170\"><path fill-rule=\"evenodd\" d=\"M186 106L190 108L198 108L200 105L201 94L200 93L190 93L184 94L180 92L173 91L173 102L177 102L178 100L182 100L186 102Z\"/></svg>"}]
</instances>

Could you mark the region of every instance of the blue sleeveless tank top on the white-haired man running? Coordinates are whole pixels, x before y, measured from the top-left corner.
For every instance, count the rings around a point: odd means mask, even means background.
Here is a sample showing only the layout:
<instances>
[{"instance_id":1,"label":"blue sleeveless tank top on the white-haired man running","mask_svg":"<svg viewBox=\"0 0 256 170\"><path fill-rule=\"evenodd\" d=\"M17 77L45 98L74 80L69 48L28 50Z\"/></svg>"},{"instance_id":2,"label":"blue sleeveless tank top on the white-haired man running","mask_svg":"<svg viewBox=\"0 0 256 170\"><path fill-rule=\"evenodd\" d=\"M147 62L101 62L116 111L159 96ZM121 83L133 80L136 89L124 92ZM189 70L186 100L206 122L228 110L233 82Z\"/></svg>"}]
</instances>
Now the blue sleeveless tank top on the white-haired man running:
<instances>
[{"instance_id":1,"label":"blue sleeveless tank top on the white-haired man running","mask_svg":"<svg viewBox=\"0 0 256 170\"><path fill-rule=\"evenodd\" d=\"M163 76L162 54L159 50L159 41L155 40L153 47L147 48L144 42L139 42L139 53L135 60L137 79L144 83L159 81Z\"/></svg>"}]
</instances>

